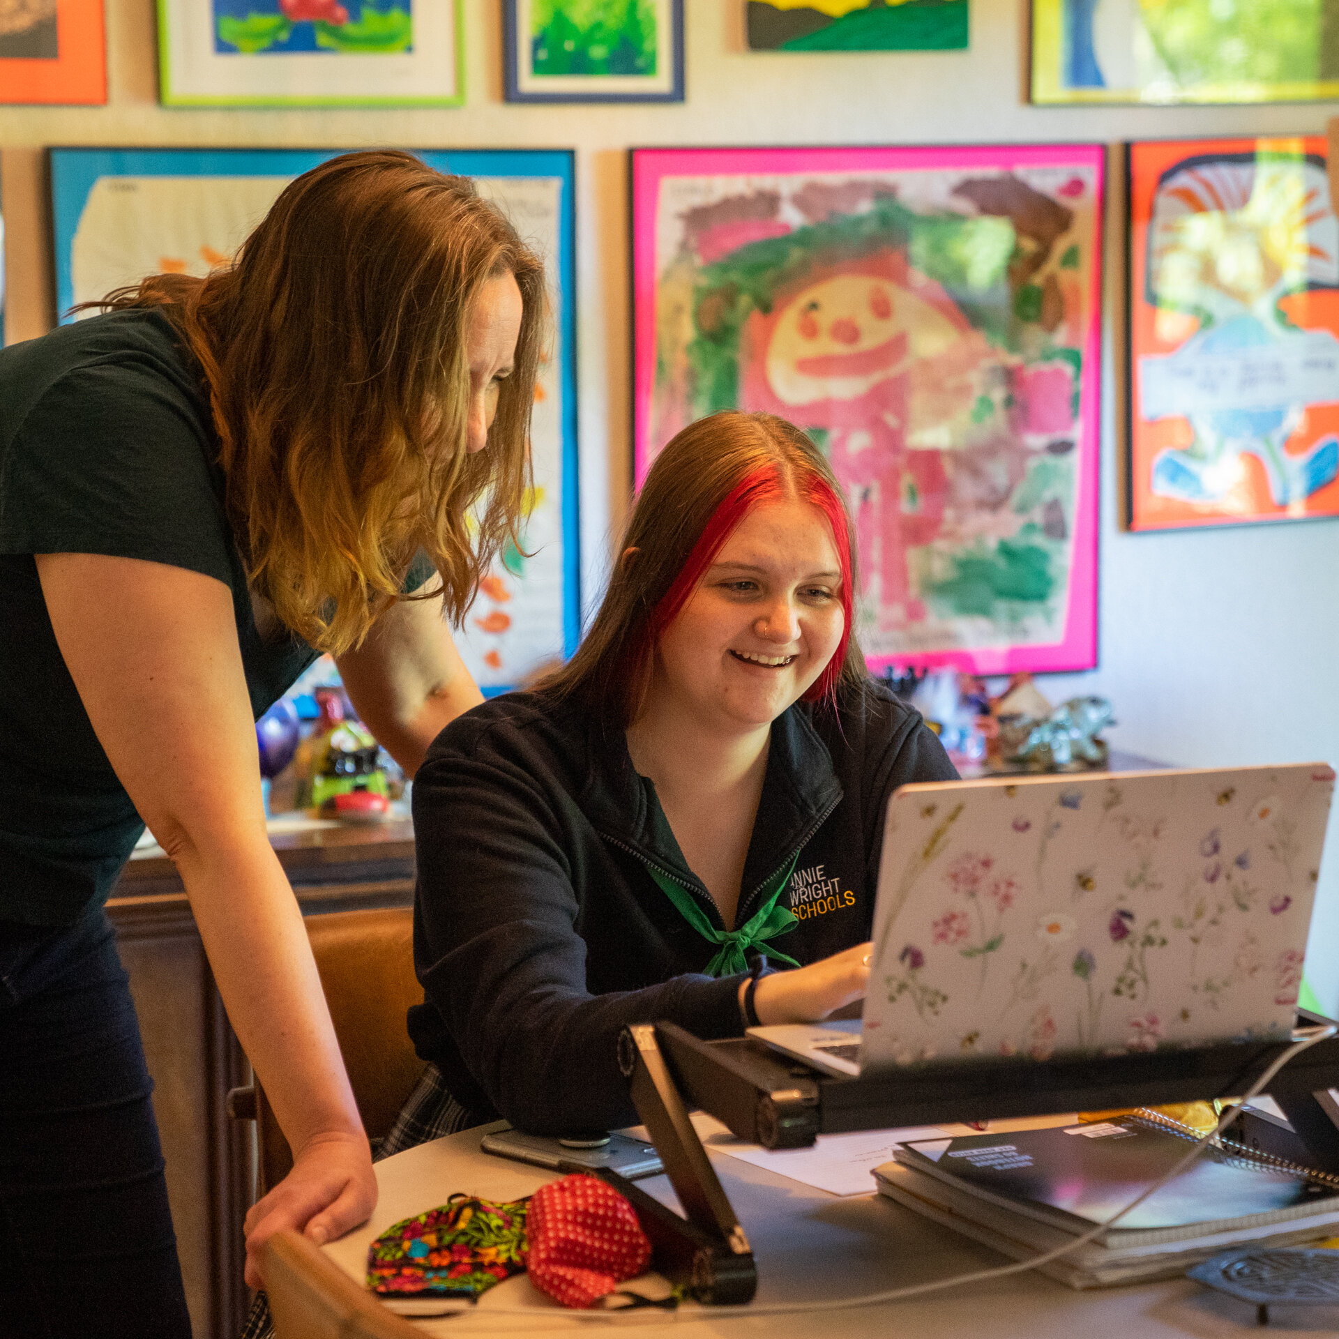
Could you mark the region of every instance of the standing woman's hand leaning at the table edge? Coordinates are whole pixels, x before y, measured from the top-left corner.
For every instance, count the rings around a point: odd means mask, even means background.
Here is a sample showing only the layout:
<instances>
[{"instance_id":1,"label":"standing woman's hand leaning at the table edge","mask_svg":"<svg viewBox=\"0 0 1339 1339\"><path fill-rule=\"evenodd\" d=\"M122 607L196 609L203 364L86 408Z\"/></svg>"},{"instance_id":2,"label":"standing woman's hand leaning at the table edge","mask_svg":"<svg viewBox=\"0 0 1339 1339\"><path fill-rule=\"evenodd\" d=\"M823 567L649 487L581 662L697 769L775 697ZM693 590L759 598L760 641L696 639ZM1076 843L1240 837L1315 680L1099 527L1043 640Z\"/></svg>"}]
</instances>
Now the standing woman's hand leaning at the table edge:
<instances>
[{"instance_id":1,"label":"standing woman's hand leaning at the table edge","mask_svg":"<svg viewBox=\"0 0 1339 1339\"><path fill-rule=\"evenodd\" d=\"M246 1210L246 1284L262 1288L265 1243L284 1229L317 1245L366 1223L376 1208L376 1176L362 1134L315 1135L293 1160L293 1170Z\"/></svg>"}]
</instances>

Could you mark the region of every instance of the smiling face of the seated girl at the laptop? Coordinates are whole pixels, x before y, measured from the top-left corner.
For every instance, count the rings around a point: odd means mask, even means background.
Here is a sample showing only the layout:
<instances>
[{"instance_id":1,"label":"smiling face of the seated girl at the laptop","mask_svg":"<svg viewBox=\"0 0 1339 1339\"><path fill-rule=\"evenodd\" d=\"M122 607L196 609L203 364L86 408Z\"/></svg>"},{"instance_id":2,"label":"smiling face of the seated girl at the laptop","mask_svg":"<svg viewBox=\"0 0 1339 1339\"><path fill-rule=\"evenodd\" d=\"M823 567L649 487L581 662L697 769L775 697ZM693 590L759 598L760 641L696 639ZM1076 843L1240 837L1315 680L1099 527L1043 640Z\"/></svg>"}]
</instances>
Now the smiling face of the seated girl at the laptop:
<instances>
[{"instance_id":1,"label":"smiling face of the seated girl at the laptop","mask_svg":"<svg viewBox=\"0 0 1339 1339\"><path fill-rule=\"evenodd\" d=\"M807 502L765 503L660 635L651 694L722 732L767 726L822 674L844 624L826 517Z\"/></svg>"}]
</instances>

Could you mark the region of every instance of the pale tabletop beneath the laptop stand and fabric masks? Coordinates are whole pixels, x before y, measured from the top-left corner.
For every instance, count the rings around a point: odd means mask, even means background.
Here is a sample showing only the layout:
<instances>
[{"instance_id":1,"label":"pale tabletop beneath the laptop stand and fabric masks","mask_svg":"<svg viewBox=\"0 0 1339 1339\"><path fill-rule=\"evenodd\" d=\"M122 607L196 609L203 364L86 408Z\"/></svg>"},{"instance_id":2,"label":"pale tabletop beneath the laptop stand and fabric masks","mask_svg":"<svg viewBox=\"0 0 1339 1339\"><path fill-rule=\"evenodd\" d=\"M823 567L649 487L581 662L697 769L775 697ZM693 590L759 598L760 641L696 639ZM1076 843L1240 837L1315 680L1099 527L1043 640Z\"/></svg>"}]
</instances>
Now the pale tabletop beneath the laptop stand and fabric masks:
<instances>
[{"instance_id":1,"label":"pale tabletop beneath the laptop stand and fabric masks","mask_svg":"<svg viewBox=\"0 0 1339 1339\"><path fill-rule=\"evenodd\" d=\"M493 1200L514 1200L554 1180L538 1168L479 1152L479 1135L491 1126L453 1134L410 1149L376 1165L380 1201L372 1220L327 1247L359 1281L366 1277L368 1244L392 1223L423 1213L457 1190ZM877 1292L904 1284L1006 1263L995 1252L939 1228L877 1194L838 1198L798 1181L714 1156L720 1181L749 1233L758 1260L759 1303L811 1302ZM664 1177L637 1182L656 1198L674 1201ZM487 1318L489 1307L533 1307L534 1320ZM1339 1307L1269 1308L1260 1330L1255 1307L1178 1279L1126 1288L1074 1292L1031 1273L882 1307L860 1307L801 1316L712 1318L711 1308L680 1308L680 1319L639 1311L609 1324L570 1320L540 1296L525 1276L490 1289L469 1316L419 1322L424 1335L546 1334L573 1328L611 1335L625 1326L655 1335L671 1330L682 1339L864 1339L915 1335L916 1339L1164 1339L1164 1336L1328 1335L1339 1330ZM700 1316L702 1319L696 1319Z\"/></svg>"}]
</instances>

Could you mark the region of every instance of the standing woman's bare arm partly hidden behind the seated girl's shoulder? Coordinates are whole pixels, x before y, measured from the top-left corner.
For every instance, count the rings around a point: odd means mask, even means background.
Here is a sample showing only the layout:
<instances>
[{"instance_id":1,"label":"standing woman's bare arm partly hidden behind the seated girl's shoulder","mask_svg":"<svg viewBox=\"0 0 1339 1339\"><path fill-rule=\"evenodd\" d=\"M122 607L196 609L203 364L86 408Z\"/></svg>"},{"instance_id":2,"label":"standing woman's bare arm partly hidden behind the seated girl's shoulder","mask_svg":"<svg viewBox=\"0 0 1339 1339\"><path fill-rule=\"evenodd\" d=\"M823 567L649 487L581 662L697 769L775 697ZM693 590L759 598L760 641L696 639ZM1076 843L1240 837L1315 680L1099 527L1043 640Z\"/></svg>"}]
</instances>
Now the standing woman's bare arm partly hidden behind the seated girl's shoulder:
<instances>
[{"instance_id":1,"label":"standing woman's bare arm partly hidden behind the seated girl's shoulder","mask_svg":"<svg viewBox=\"0 0 1339 1339\"><path fill-rule=\"evenodd\" d=\"M426 589L441 590L438 577ZM336 661L349 702L387 753L412 777L427 746L483 700L451 640L441 600L400 600L356 651Z\"/></svg>"}]
</instances>

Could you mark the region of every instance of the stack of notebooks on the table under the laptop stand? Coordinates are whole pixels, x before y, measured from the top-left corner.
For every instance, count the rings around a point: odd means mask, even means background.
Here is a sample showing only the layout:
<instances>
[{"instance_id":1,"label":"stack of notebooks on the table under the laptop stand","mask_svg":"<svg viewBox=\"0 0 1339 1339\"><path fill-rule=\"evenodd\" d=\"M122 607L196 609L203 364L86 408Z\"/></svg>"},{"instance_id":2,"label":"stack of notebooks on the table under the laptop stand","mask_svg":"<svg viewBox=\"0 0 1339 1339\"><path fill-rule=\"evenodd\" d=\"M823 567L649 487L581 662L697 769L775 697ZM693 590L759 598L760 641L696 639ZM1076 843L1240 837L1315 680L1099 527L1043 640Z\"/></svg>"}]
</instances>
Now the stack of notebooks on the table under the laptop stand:
<instances>
[{"instance_id":1,"label":"stack of notebooks on the table under the laptop stand","mask_svg":"<svg viewBox=\"0 0 1339 1339\"><path fill-rule=\"evenodd\" d=\"M1185 1156L1197 1131L1156 1113L921 1139L874 1170L880 1193L1015 1260L1065 1245ZM1339 1177L1214 1141L1093 1241L1040 1265L1071 1288L1184 1273L1229 1247L1335 1235Z\"/></svg>"}]
</instances>

